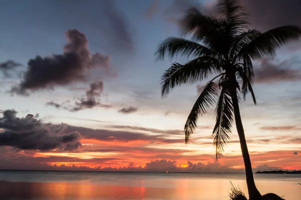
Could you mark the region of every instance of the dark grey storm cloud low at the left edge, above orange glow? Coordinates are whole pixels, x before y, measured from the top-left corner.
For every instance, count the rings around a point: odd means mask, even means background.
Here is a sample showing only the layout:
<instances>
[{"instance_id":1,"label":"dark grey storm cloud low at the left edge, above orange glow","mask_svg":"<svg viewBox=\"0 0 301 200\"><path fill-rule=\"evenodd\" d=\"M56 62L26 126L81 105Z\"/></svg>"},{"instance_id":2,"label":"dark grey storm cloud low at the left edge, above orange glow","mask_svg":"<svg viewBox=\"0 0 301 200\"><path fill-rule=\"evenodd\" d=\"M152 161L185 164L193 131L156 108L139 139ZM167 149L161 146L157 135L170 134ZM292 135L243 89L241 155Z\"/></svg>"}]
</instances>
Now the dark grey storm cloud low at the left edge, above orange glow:
<instances>
[{"instance_id":1,"label":"dark grey storm cloud low at the left edge, above orange glow","mask_svg":"<svg viewBox=\"0 0 301 200\"><path fill-rule=\"evenodd\" d=\"M67 150L72 151L81 146L81 137L77 131L60 134L62 126L44 124L32 114L19 118L17 111L5 110L0 118L0 146L13 146L31 150Z\"/></svg>"}]
</instances>

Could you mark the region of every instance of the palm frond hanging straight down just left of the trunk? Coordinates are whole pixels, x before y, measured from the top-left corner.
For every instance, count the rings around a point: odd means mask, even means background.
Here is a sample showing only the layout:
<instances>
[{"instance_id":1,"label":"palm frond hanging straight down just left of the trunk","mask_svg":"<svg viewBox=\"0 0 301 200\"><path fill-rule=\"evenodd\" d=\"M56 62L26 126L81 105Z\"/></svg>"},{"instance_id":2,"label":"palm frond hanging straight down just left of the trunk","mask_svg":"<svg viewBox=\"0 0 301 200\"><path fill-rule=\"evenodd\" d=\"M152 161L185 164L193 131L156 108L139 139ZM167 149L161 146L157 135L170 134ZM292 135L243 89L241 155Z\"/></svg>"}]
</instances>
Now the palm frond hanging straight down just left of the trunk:
<instances>
[{"instance_id":1,"label":"palm frond hanging straight down just left of the trunk","mask_svg":"<svg viewBox=\"0 0 301 200\"><path fill-rule=\"evenodd\" d=\"M224 151L224 146L230 139L229 134L231 133L233 124L233 105L227 84L223 84L215 109L215 117L216 124L213 128L212 135L214 137L213 143L216 147L216 159L218 159Z\"/></svg>"}]
</instances>

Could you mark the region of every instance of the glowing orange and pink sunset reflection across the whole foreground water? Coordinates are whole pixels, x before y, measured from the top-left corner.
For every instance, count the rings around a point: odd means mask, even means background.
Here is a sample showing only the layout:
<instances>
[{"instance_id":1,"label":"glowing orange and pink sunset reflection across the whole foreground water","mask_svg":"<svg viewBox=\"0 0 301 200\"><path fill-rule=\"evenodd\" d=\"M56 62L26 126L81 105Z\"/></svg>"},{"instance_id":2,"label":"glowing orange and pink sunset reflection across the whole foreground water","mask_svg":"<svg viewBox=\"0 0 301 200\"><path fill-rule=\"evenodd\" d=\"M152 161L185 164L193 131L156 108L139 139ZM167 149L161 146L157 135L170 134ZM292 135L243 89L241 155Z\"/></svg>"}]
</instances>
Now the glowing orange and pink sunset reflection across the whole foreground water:
<instances>
[{"instance_id":1,"label":"glowing orange and pink sunset reflection across the whole foreground water","mask_svg":"<svg viewBox=\"0 0 301 200\"><path fill-rule=\"evenodd\" d=\"M245 180L234 179L234 185L246 191ZM229 179L222 178L158 178L140 179L135 186L112 182L56 181L10 182L0 181L0 199L6 200L223 200L229 199ZM301 196L297 182L281 180L256 181L262 193L275 192L286 199L298 200ZM127 186L129 185L129 186Z\"/></svg>"}]
</instances>

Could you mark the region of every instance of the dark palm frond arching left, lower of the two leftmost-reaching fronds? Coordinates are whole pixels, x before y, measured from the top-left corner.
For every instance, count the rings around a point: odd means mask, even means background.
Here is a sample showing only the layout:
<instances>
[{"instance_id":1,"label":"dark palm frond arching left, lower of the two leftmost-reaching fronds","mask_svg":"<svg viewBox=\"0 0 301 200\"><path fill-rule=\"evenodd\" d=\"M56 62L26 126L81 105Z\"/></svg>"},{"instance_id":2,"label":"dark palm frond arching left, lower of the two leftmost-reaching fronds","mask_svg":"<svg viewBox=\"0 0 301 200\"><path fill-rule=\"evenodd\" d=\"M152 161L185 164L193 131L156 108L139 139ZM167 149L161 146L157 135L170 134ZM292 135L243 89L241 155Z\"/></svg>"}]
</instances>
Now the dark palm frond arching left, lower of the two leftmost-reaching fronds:
<instances>
[{"instance_id":1,"label":"dark palm frond arching left, lower of the two leftmost-reaching fronds","mask_svg":"<svg viewBox=\"0 0 301 200\"><path fill-rule=\"evenodd\" d=\"M184 65L173 63L161 77L162 96L166 96L175 86L184 83L193 84L218 72L218 65L218 59L211 56L202 56Z\"/></svg>"}]
</instances>

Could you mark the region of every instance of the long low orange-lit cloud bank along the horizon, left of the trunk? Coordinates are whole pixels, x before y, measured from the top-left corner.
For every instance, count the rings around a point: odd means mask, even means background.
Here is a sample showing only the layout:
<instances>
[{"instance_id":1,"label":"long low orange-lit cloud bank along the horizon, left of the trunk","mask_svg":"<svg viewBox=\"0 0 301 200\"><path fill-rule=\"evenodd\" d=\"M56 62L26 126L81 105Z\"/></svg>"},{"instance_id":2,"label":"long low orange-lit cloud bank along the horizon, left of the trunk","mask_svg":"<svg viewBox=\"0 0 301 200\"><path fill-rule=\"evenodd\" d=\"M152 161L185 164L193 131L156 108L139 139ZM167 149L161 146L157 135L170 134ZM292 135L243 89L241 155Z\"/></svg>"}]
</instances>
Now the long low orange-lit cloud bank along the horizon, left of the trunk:
<instances>
[{"instance_id":1,"label":"long low orange-lit cloud bank along the horizon, left of the trunk","mask_svg":"<svg viewBox=\"0 0 301 200\"><path fill-rule=\"evenodd\" d=\"M4 159L2 159L4 161ZM25 161L26 160L26 161ZM188 161L186 167L178 164L176 160L166 160L166 159L156 159L150 162L146 162L144 166L136 166L134 162L128 162L127 166L122 167L112 167L104 166L100 164L105 164L108 161L117 160L116 158L91 158L91 159L81 159L73 157L59 157L59 156L49 156L49 157L31 157L23 156L8 162L0 162L1 169L39 169L39 170L88 170L88 171L147 171L147 172L243 172L243 169L234 169L232 167L224 166L218 162L208 162L208 163L193 163ZM95 167L89 167L86 165L74 165L74 164L50 164L50 163L72 163L78 162L80 164L97 164Z\"/></svg>"}]
</instances>

